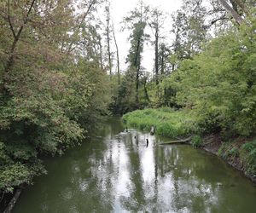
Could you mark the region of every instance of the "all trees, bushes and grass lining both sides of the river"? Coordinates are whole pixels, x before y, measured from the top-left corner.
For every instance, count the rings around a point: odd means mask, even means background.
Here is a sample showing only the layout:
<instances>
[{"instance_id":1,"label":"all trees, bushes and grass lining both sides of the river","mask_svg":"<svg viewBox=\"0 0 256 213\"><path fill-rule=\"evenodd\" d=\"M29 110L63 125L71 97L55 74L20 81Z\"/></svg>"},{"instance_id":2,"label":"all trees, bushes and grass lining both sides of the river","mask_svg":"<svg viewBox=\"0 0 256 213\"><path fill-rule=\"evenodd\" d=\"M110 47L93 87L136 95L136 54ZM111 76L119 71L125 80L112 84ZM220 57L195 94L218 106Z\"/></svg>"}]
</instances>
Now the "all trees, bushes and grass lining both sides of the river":
<instances>
[{"instance_id":1,"label":"all trees, bushes and grass lining both sides of the river","mask_svg":"<svg viewBox=\"0 0 256 213\"><path fill-rule=\"evenodd\" d=\"M193 135L194 147L213 135L218 155L255 177L256 4L205 4L183 0L167 16L138 1L120 26L130 43L123 69L111 1L2 1L0 205L47 173L40 156L79 145L103 116L148 107L159 109L124 119L174 139ZM154 72L143 67L147 45Z\"/></svg>"}]
</instances>

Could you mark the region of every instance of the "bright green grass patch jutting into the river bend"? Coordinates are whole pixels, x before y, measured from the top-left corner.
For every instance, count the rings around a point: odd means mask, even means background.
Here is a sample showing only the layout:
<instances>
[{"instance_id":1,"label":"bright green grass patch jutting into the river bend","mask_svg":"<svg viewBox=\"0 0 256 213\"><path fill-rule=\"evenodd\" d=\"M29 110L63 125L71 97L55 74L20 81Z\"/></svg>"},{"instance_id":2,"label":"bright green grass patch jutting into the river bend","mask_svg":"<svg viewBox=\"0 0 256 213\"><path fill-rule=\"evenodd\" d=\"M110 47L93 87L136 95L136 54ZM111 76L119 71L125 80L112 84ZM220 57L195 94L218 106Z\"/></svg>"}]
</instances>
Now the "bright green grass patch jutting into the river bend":
<instances>
[{"instance_id":1,"label":"bright green grass patch jutting into the river bend","mask_svg":"<svg viewBox=\"0 0 256 213\"><path fill-rule=\"evenodd\" d=\"M189 112L174 111L171 108L143 109L126 113L123 116L125 124L140 130L150 130L155 127L157 135L176 138L189 135L192 129L193 119Z\"/></svg>"}]
</instances>

